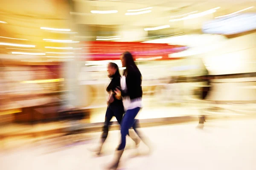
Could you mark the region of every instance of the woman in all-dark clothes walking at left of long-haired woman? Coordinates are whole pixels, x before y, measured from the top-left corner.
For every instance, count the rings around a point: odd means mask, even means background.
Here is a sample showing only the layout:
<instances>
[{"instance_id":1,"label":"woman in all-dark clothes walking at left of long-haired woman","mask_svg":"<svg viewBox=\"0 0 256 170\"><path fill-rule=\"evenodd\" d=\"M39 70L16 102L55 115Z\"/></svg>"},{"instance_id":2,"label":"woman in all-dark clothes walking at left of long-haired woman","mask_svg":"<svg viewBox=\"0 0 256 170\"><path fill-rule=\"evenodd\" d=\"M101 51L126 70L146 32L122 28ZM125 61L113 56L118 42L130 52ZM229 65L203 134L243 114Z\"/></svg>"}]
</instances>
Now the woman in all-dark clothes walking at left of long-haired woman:
<instances>
[{"instance_id":1,"label":"woman in all-dark clothes walking at left of long-haired woman","mask_svg":"<svg viewBox=\"0 0 256 170\"><path fill-rule=\"evenodd\" d=\"M107 87L107 92L109 93L108 97L108 108L105 114L105 122L103 126L103 133L100 139L100 142L96 148L90 149L90 151L95 152L97 155L101 153L102 146L107 139L109 126L111 124L111 119L113 116L116 117L117 122L121 125L123 114L124 114L124 107L122 103L122 99L116 99L114 96L113 91L116 87L120 87L120 78L121 75L119 73L118 65L116 63L110 62L108 64L108 77L111 78L111 82ZM139 139L132 138L136 145L139 144Z\"/></svg>"}]
</instances>

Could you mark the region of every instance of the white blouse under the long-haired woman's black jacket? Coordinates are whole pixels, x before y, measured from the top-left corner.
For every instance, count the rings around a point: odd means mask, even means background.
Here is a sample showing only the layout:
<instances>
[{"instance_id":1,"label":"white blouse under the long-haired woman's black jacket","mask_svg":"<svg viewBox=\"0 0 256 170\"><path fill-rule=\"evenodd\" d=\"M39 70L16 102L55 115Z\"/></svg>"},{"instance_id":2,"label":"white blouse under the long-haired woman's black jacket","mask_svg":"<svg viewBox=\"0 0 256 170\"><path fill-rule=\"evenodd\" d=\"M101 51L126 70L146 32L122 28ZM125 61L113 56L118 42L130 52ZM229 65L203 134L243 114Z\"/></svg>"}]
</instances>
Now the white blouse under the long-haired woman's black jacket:
<instances>
[{"instance_id":1,"label":"white blouse under the long-haired woman's black jacket","mask_svg":"<svg viewBox=\"0 0 256 170\"><path fill-rule=\"evenodd\" d=\"M125 76L122 76L120 79L120 84L121 84L121 89L122 91L127 92L127 86L126 86L126 80ZM143 102L142 102L142 97L138 97L135 99L130 99L130 96L124 96L122 97L123 105L125 111L135 109L135 108L143 108Z\"/></svg>"}]
</instances>

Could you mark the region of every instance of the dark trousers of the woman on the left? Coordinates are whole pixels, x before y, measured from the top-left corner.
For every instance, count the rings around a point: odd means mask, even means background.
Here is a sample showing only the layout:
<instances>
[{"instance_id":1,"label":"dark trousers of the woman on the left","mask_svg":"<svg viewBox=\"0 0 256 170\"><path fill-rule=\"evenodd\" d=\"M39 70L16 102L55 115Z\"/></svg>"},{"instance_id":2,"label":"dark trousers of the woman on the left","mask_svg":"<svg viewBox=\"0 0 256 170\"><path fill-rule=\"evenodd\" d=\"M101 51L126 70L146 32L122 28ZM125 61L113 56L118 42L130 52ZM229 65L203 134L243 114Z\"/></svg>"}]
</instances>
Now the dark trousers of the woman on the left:
<instances>
[{"instance_id":1,"label":"dark trousers of the woman on the left","mask_svg":"<svg viewBox=\"0 0 256 170\"><path fill-rule=\"evenodd\" d=\"M101 136L102 143L104 143L105 140L108 137L108 130L109 130L109 126L111 125L110 121L113 118L113 116L116 117L117 122L119 123L119 125L121 125L124 112L125 111L124 111L123 107L121 107L121 106L120 107L119 106L112 106L112 105L108 106L107 111L106 111L106 115L105 115L103 133L102 133L102 136ZM131 127L133 127L134 131L137 133L138 124L134 123L134 125L131 126ZM129 133L127 133L127 135L129 135Z\"/></svg>"}]
</instances>

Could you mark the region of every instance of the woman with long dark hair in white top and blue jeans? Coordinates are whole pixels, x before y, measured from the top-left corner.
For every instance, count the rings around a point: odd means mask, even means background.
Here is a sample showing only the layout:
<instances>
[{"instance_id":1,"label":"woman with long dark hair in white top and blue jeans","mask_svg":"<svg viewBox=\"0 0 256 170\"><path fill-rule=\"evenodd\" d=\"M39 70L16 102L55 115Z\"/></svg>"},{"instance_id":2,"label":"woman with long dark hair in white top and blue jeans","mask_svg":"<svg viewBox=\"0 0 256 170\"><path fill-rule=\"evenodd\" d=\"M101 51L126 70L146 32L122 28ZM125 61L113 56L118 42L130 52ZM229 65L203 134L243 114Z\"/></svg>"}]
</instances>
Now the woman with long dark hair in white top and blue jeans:
<instances>
[{"instance_id":1,"label":"woman with long dark hair in white top and blue jeans","mask_svg":"<svg viewBox=\"0 0 256 170\"><path fill-rule=\"evenodd\" d=\"M137 131L137 116L140 109L143 107L142 103L142 75L139 68L134 62L133 56L130 52L125 52L121 56L122 67L126 67L121 78L121 88L115 90L116 99L122 99L125 108L125 115L121 122L121 144L115 152L112 163L107 167L108 170L116 170L119 160L125 149L126 135L131 127L138 134ZM140 136L138 134L138 136ZM140 137L141 138L141 137ZM144 142L145 143L145 142Z\"/></svg>"}]
</instances>

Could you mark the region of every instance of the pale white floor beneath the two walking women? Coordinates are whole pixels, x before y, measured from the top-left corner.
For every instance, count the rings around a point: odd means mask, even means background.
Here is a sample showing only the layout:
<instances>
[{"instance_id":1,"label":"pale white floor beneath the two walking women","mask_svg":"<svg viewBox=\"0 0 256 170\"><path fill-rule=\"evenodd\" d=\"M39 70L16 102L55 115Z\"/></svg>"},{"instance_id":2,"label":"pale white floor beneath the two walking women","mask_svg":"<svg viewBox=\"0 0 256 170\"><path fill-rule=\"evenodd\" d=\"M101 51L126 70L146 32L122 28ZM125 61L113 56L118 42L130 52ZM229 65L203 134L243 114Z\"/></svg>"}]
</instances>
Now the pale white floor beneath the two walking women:
<instances>
[{"instance_id":1,"label":"pale white floor beneath the two walking women","mask_svg":"<svg viewBox=\"0 0 256 170\"><path fill-rule=\"evenodd\" d=\"M143 128L154 146L150 156L130 158L125 150L125 170L256 170L256 120L207 122L204 130L196 123ZM94 133L99 136L100 133ZM128 139L128 147L133 143ZM105 155L94 157L87 150L97 140L59 150L51 146L29 146L2 152L1 170L102 170L113 157L119 131L111 131ZM140 150L144 150L144 146Z\"/></svg>"}]
</instances>

